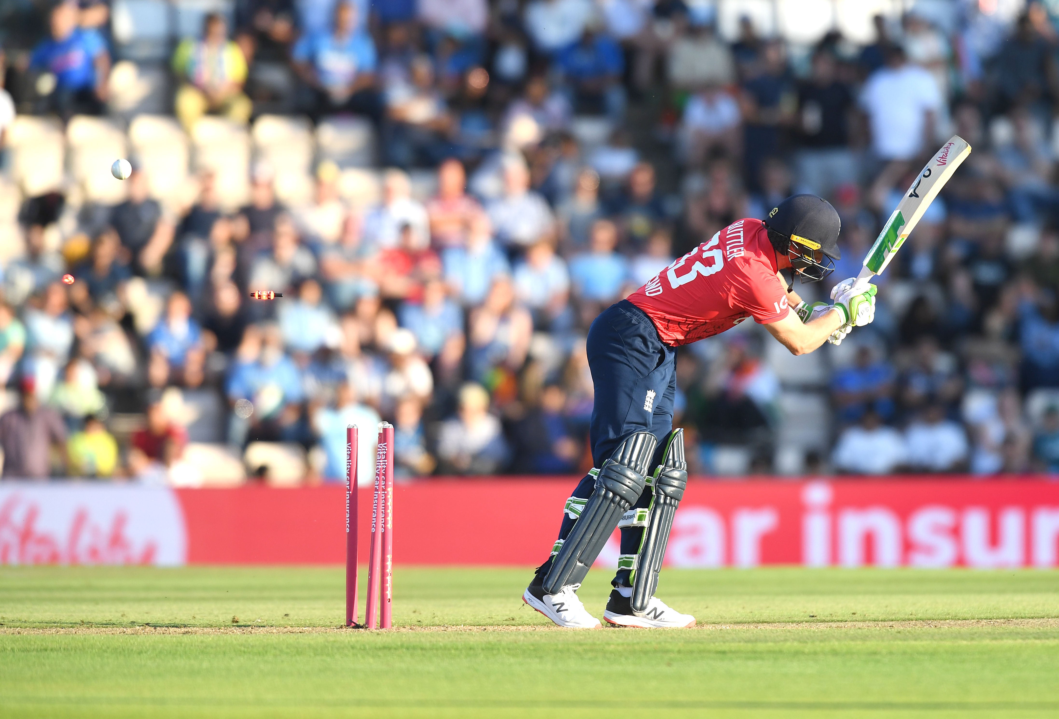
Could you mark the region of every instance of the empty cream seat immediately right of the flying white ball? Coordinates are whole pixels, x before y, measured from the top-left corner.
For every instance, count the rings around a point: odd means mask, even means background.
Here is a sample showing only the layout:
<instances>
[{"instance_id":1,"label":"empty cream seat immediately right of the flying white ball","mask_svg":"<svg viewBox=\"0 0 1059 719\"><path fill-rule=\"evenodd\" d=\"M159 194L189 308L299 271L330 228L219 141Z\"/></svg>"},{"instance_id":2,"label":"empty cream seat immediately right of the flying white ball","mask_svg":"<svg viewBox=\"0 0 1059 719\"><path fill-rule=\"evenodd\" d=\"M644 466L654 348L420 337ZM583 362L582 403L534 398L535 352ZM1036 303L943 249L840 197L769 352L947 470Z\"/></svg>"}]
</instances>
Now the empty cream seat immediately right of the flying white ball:
<instances>
[{"instance_id":1,"label":"empty cream seat immediately right of the flying white ball","mask_svg":"<svg viewBox=\"0 0 1059 719\"><path fill-rule=\"evenodd\" d=\"M141 114L129 124L132 154L147 173L154 197L165 203L187 199L194 192L187 175L187 136L166 115Z\"/></svg>"}]
</instances>

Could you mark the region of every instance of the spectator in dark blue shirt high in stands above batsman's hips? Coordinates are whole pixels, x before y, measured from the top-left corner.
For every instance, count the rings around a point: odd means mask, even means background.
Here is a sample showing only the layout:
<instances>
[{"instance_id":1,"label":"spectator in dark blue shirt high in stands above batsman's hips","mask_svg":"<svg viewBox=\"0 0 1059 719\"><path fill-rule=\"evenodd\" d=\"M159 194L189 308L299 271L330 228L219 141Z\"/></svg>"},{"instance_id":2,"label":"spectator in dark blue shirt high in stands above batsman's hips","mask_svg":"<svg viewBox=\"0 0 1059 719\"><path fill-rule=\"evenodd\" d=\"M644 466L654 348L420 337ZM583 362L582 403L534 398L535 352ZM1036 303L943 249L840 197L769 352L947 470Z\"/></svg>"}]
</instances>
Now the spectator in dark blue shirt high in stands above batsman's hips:
<instances>
[{"instance_id":1,"label":"spectator in dark blue shirt high in stands above batsman's hips","mask_svg":"<svg viewBox=\"0 0 1059 719\"><path fill-rule=\"evenodd\" d=\"M606 113L614 121L622 119L625 90L621 80L625 60L617 42L586 29L579 42L559 52L556 65L570 85L578 113Z\"/></svg>"}]
</instances>

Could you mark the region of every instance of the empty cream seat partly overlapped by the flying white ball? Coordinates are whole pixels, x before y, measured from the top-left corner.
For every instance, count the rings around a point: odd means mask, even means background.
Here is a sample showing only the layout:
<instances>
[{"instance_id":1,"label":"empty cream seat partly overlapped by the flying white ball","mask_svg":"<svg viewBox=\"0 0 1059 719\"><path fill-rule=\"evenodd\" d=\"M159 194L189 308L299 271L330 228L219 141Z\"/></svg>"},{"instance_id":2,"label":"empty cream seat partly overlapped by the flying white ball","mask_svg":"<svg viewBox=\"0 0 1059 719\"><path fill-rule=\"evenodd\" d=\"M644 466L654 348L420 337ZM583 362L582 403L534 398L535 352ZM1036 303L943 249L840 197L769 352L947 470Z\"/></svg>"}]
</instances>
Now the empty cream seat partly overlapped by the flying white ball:
<instances>
[{"instance_id":1,"label":"empty cream seat partly overlapped by the flying white ball","mask_svg":"<svg viewBox=\"0 0 1059 719\"><path fill-rule=\"evenodd\" d=\"M114 204L127 185L110 175L110 164L127 155L125 132L109 118L76 115L67 124L69 167L85 199Z\"/></svg>"}]
</instances>

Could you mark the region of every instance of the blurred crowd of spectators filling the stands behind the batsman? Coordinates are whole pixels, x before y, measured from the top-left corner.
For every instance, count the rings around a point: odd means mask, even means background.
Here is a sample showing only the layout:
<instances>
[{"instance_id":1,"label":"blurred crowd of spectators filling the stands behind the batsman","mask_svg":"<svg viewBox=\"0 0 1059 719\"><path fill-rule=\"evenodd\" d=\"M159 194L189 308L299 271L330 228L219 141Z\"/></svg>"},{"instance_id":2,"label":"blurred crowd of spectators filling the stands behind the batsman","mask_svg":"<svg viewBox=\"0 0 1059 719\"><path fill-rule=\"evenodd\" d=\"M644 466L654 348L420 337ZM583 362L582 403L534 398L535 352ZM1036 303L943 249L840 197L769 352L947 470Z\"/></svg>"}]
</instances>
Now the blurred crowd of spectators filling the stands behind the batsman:
<instances>
[{"instance_id":1,"label":"blurred crowd of spectators filling the stands behind the batsman","mask_svg":"<svg viewBox=\"0 0 1059 719\"><path fill-rule=\"evenodd\" d=\"M3 473L196 485L223 455L270 479L280 447L336 481L346 425L380 420L398 478L584 471L600 309L796 192L842 217L836 273L796 287L826 299L952 133L973 152L878 278L875 323L802 358L754 323L682 348L676 424L695 473L1059 472L1059 16L995 5L795 44L749 17L725 39L683 0L226 4L173 49L183 128L364 118L380 196L348 203L323 160L285 203L258 160L243 206L212 173L174 205L133 156L118 204L24 197ZM107 113L112 21L22 3L0 132Z\"/></svg>"}]
</instances>

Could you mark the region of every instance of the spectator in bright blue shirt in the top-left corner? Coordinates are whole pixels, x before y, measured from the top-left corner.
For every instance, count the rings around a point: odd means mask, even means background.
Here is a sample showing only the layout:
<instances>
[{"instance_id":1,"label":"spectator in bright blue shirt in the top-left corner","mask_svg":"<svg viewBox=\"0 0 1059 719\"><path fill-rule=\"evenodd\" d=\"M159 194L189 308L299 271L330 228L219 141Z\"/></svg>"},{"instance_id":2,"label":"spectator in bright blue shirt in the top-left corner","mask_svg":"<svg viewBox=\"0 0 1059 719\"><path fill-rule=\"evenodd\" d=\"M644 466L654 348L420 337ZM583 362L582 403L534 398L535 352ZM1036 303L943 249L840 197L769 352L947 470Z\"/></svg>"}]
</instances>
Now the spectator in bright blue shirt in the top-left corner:
<instances>
[{"instance_id":1,"label":"spectator in bright blue shirt in the top-left corner","mask_svg":"<svg viewBox=\"0 0 1059 719\"><path fill-rule=\"evenodd\" d=\"M102 114L110 74L106 41L96 31L77 26L75 3L55 5L50 20L51 36L30 57L32 69L55 78L54 89L44 93L47 110L64 121L74 114Z\"/></svg>"}]
</instances>

